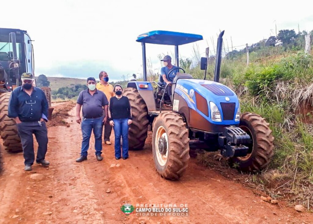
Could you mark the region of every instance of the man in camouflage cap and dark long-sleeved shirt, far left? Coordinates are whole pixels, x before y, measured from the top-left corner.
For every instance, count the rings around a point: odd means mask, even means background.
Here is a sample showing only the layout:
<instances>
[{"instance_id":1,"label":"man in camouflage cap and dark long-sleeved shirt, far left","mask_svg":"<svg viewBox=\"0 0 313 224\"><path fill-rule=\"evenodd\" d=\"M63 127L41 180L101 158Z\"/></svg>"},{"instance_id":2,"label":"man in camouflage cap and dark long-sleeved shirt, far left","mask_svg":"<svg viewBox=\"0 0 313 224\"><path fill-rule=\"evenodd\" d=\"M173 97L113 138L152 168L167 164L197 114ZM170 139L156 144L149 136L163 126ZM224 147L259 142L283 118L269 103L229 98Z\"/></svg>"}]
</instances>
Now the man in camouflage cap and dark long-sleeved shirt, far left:
<instances>
[{"instance_id":1,"label":"man in camouflage cap and dark long-sleeved shirt, far left","mask_svg":"<svg viewBox=\"0 0 313 224\"><path fill-rule=\"evenodd\" d=\"M32 170L35 160L33 134L38 142L36 163L48 166L45 160L48 131L45 121L48 117L48 101L40 88L33 86L33 74L22 74L22 86L15 88L10 96L8 116L14 118L21 138L25 171Z\"/></svg>"}]
</instances>

